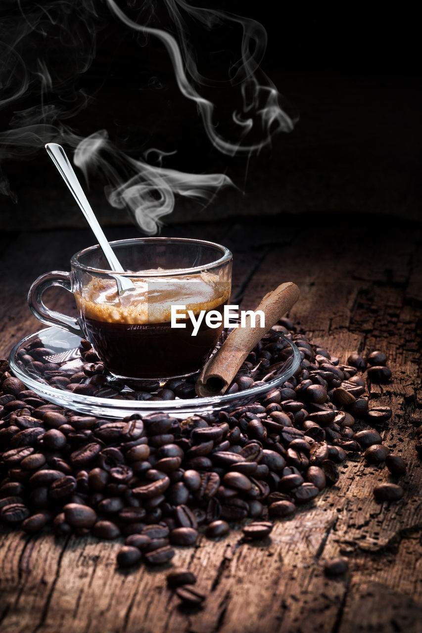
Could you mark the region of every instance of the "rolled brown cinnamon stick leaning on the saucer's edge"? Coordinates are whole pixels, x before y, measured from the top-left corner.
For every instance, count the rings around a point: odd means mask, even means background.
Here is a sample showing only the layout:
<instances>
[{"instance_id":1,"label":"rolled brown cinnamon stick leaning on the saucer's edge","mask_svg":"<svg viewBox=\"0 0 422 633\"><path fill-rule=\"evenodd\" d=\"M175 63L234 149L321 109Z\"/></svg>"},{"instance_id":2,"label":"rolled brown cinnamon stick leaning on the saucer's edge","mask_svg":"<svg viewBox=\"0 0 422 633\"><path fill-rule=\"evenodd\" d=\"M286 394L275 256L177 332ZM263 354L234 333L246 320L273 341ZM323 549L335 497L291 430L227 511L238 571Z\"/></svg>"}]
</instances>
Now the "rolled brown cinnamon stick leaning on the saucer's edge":
<instances>
[{"instance_id":1,"label":"rolled brown cinnamon stick leaning on the saucer's edge","mask_svg":"<svg viewBox=\"0 0 422 633\"><path fill-rule=\"evenodd\" d=\"M252 327L250 315L246 315L246 327L238 327L229 334L221 348L208 359L196 382L198 396L220 396L231 384L236 372L264 334L271 330L281 316L297 302L299 289L293 282L281 284L265 294L256 310L265 315L264 327ZM255 311L256 311L255 310ZM257 318L257 324L260 318Z\"/></svg>"}]
</instances>

